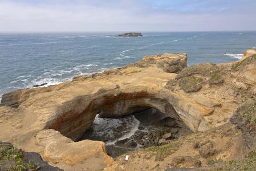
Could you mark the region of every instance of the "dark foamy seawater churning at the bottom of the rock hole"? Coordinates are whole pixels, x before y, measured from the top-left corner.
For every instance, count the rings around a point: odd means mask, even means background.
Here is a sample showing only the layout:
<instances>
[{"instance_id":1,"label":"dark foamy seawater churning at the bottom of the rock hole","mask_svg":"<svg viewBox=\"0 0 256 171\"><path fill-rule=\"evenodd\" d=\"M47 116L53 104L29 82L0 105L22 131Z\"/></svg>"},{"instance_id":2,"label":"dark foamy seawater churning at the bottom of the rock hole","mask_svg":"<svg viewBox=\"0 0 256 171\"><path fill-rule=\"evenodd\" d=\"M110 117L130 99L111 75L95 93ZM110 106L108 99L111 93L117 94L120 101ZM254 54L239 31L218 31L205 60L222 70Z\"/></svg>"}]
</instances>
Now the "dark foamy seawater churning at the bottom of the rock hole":
<instances>
[{"instance_id":1,"label":"dark foamy seawater churning at the bottom of the rock hole","mask_svg":"<svg viewBox=\"0 0 256 171\"><path fill-rule=\"evenodd\" d=\"M153 145L148 142L152 142L152 135L163 132L163 130L177 129L162 126L160 120L166 116L155 108L127 115L120 119L99 118L97 116L92 127L84 133L80 140L103 141L108 155L114 158L147 147L145 144ZM157 141L154 137L153 140Z\"/></svg>"}]
</instances>

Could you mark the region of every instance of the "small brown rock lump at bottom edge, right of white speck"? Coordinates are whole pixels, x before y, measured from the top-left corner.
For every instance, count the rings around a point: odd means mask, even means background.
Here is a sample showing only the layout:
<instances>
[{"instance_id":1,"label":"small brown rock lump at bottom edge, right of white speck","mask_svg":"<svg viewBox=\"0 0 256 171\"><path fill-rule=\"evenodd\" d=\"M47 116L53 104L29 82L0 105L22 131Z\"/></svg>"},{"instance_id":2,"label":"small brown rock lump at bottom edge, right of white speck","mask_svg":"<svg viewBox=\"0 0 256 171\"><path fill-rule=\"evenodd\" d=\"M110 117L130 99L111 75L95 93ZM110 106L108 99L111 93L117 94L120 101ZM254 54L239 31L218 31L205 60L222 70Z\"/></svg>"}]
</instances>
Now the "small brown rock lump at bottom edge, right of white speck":
<instances>
[{"instance_id":1,"label":"small brown rock lump at bottom edge, right of white speck","mask_svg":"<svg viewBox=\"0 0 256 171\"><path fill-rule=\"evenodd\" d=\"M173 157L171 165L177 168L199 168L202 162L190 156L176 156Z\"/></svg>"}]
</instances>

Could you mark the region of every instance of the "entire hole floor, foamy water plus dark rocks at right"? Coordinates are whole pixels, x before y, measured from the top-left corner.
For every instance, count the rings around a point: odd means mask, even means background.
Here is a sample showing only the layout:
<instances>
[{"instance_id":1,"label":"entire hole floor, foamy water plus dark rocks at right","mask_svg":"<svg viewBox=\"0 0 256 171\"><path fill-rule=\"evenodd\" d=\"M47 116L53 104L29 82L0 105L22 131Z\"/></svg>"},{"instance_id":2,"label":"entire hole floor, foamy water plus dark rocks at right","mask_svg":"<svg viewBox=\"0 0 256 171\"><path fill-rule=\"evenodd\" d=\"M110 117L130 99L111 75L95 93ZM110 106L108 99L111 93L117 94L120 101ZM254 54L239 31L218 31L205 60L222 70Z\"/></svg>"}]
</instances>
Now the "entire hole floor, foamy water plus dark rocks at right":
<instances>
[{"instance_id":1,"label":"entire hole floor, foamy water plus dark rocks at right","mask_svg":"<svg viewBox=\"0 0 256 171\"><path fill-rule=\"evenodd\" d=\"M103 141L108 155L115 158L141 148L168 144L192 133L180 124L170 125L172 120L156 108L120 118L101 118L97 114L92 127L80 141Z\"/></svg>"}]
</instances>

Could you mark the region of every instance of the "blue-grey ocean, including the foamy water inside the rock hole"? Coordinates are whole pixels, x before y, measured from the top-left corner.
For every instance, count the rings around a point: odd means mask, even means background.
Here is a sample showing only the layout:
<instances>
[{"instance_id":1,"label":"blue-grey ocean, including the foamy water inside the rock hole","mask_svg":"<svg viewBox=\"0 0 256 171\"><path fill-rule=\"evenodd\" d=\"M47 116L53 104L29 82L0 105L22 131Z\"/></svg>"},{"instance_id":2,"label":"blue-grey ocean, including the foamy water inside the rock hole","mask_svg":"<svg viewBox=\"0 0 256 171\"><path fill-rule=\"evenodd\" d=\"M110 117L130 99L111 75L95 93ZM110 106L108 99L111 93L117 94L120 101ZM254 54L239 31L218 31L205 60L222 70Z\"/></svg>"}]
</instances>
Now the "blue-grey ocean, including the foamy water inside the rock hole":
<instances>
[{"instance_id":1,"label":"blue-grey ocean, including the foamy water inside the rock hole","mask_svg":"<svg viewBox=\"0 0 256 171\"><path fill-rule=\"evenodd\" d=\"M233 62L241 59L243 52L256 46L256 31L141 32L141 37L116 36L121 33L0 33L0 99L4 93L17 89L33 88L44 83L47 83L44 86L55 85L70 81L74 76L127 66L146 55L186 53L188 66L192 66ZM143 123L146 118L155 115L156 111L152 109L143 119L135 115L112 120L96 118L83 139L89 137L104 141L107 152L116 157L141 148L137 144L134 149L121 149L116 144L121 140L133 142L132 137L138 133L139 127L145 128L144 133L159 129L157 124L151 127L152 123ZM114 125L121 129L108 128L103 132L102 125Z\"/></svg>"}]
</instances>

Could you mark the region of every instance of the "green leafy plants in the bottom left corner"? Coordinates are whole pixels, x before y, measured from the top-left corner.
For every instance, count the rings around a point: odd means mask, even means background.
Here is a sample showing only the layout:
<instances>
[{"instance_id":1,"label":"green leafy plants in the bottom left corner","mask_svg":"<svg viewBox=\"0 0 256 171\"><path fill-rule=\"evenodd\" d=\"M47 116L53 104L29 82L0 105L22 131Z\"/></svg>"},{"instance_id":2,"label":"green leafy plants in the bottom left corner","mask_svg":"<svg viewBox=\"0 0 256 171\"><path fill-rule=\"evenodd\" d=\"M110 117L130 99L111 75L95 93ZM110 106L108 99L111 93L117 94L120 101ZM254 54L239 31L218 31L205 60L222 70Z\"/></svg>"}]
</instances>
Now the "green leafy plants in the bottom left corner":
<instances>
[{"instance_id":1,"label":"green leafy plants in the bottom left corner","mask_svg":"<svg viewBox=\"0 0 256 171\"><path fill-rule=\"evenodd\" d=\"M40 164L34 164L32 160L29 164L23 163L22 157L24 156L22 149L15 149L12 145L0 145L0 170L37 170Z\"/></svg>"}]
</instances>

